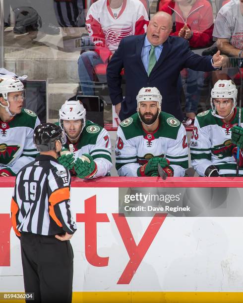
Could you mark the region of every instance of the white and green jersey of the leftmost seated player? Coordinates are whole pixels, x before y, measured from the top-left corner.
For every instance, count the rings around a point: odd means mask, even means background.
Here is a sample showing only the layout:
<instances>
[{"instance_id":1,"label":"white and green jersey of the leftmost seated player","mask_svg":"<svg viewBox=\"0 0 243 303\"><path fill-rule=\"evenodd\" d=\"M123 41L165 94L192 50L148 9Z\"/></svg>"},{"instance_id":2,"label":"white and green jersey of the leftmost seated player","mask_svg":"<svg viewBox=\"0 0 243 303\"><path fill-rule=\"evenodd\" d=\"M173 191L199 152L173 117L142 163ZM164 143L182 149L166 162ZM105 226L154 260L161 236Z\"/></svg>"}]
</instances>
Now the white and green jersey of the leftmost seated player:
<instances>
[{"instance_id":1,"label":"white and green jersey of the leftmost seated player","mask_svg":"<svg viewBox=\"0 0 243 303\"><path fill-rule=\"evenodd\" d=\"M9 169L17 174L18 171L33 161L37 150L33 143L33 133L40 124L37 115L30 109L24 108L10 121L0 121L0 170L1 175L7 175ZM12 174L12 175L14 175Z\"/></svg>"}]
</instances>

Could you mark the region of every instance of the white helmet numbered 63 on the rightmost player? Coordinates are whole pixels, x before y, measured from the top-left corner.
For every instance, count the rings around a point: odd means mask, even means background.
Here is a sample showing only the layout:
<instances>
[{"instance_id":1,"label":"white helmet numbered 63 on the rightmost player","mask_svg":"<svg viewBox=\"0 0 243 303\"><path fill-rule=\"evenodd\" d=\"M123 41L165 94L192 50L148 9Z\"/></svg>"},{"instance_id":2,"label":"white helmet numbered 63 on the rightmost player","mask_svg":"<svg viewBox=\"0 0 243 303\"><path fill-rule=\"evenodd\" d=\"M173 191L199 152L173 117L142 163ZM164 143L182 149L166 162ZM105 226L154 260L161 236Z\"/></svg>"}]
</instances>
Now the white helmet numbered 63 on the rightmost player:
<instances>
[{"instance_id":1,"label":"white helmet numbered 63 on the rightmost player","mask_svg":"<svg viewBox=\"0 0 243 303\"><path fill-rule=\"evenodd\" d=\"M234 110L237 105L237 88L235 83L232 80L218 80L213 89L211 90L211 107L212 107L212 115L218 117L220 119L227 118ZM216 114L216 106L214 104L214 99L233 99L233 106L231 112L227 117L221 117Z\"/></svg>"}]
</instances>

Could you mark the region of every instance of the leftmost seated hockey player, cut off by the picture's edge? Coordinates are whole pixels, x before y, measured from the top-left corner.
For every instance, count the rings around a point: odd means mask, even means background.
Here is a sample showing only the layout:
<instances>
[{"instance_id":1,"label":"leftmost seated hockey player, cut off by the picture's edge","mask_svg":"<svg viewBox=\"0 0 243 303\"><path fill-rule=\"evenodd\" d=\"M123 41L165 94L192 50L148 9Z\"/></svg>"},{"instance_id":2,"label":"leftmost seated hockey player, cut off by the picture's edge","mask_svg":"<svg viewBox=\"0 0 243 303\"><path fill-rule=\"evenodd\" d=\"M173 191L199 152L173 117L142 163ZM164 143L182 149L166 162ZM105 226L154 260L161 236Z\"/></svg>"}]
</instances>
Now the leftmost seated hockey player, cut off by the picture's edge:
<instances>
[{"instance_id":1,"label":"leftmost seated hockey player, cut off by the picture's edge","mask_svg":"<svg viewBox=\"0 0 243 303\"><path fill-rule=\"evenodd\" d=\"M0 76L0 176L15 176L37 154L33 133L40 121L22 108L24 93L17 78Z\"/></svg>"}]
</instances>

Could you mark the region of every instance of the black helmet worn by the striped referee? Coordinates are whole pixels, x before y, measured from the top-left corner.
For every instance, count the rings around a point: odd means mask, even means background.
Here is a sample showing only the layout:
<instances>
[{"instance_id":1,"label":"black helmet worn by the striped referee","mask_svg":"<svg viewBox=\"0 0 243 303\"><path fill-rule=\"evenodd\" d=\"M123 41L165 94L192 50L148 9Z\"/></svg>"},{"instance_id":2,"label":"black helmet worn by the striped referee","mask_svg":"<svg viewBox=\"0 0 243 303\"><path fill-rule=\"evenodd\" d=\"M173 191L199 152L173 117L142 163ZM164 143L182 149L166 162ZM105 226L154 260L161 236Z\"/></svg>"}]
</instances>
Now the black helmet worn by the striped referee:
<instances>
[{"instance_id":1,"label":"black helmet worn by the striped referee","mask_svg":"<svg viewBox=\"0 0 243 303\"><path fill-rule=\"evenodd\" d=\"M33 140L38 152L48 152L56 150L57 140L64 145L66 136L60 126L53 123L42 123L35 128Z\"/></svg>"}]
</instances>

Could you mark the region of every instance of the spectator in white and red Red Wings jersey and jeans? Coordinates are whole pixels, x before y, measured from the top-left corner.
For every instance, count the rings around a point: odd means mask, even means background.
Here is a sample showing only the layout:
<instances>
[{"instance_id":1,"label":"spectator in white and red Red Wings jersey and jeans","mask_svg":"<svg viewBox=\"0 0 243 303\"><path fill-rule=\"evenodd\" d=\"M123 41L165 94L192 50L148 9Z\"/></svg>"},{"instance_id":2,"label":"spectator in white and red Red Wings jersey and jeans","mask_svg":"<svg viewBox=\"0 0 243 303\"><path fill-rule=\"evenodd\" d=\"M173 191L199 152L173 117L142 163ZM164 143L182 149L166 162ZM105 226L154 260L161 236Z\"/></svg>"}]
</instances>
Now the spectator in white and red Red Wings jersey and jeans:
<instances>
[{"instance_id":1,"label":"spectator in white and red Red Wings jersey and jeans","mask_svg":"<svg viewBox=\"0 0 243 303\"><path fill-rule=\"evenodd\" d=\"M83 95L94 95L94 66L108 63L123 37L143 34L147 25L148 14L139 0L98 0L90 6L86 28L95 47L78 59Z\"/></svg>"}]
</instances>

